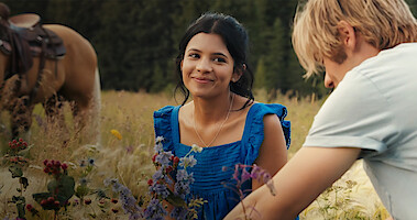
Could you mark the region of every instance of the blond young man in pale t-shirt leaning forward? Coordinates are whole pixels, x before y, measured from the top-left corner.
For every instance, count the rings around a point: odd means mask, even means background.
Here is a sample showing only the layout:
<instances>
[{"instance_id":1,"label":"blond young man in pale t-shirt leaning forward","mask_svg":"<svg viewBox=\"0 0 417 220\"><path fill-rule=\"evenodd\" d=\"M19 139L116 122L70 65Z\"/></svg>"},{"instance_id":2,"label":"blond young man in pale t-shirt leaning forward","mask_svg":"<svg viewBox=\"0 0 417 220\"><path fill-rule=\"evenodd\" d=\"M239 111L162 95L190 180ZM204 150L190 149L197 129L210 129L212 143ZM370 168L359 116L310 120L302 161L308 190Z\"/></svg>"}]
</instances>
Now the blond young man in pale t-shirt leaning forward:
<instances>
[{"instance_id":1,"label":"blond young man in pale t-shirt leaning forward","mask_svg":"<svg viewBox=\"0 0 417 220\"><path fill-rule=\"evenodd\" d=\"M417 21L404 0L309 0L294 21L307 76L334 88L304 146L243 200L261 219L294 219L358 160L394 219L417 217ZM246 209L246 210L248 210ZM243 215L237 206L226 219Z\"/></svg>"}]
</instances>

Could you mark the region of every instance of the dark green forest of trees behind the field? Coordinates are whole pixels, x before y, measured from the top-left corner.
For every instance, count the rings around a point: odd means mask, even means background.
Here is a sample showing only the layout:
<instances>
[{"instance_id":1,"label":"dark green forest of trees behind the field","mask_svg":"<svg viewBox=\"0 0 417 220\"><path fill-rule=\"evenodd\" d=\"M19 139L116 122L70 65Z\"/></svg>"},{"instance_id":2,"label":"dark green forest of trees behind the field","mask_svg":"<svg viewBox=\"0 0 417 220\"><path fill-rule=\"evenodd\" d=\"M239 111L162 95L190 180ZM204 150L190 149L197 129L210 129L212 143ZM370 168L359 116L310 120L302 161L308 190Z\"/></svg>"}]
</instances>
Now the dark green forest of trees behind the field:
<instances>
[{"instance_id":1,"label":"dark green forest of trees behind the field","mask_svg":"<svg viewBox=\"0 0 417 220\"><path fill-rule=\"evenodd\" d=\"M407 1L414 12L417 0ZM322 75L305 79L292 48L298 0L3 0L11 15L32 12L43 23L73 28L98 54L103 89L172 89L177 45L188 24L207 11L237 18L250 35L255 87L271 94L323 96ZM416 14L416 13L415 13Z\"/></svg>"}]
</instances>

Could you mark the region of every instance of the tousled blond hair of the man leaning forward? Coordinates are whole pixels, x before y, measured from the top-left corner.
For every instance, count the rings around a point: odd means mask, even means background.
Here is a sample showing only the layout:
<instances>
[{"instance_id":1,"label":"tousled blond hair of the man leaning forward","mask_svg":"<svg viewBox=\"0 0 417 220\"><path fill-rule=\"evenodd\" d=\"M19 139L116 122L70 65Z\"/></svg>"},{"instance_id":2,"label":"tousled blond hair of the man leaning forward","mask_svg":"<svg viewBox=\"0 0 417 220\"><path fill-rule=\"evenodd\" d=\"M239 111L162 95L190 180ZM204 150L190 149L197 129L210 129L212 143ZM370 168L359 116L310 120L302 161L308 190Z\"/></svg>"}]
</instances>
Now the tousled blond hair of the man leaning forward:
<instances>
[{"instance_id":1,"label":"tousled blond hair of the man leaning forward","mask_svg":"<svg viewBox=\"0 0 417 220\"><path fill-rule=\"evenodd\" d=\"M338 25L347 21L378 50L417 42L417 21L404 0L309 0L298 6L293 46L306 77L322 72L323 57L345 59Z\"/></svg>"}]
</instances>

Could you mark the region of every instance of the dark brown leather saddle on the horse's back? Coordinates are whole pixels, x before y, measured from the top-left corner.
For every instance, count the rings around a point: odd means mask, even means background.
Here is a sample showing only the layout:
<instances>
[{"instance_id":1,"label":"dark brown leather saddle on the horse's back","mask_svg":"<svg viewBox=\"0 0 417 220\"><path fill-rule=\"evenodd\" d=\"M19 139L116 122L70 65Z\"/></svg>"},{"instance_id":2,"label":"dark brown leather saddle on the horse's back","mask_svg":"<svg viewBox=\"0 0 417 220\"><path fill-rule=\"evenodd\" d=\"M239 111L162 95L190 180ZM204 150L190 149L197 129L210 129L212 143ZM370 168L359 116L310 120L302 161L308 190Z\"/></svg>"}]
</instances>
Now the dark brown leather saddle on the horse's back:
<instances>
[{"instance_id":1,"label":"dark brown leather saddle on the horse's back","mask_svg":"<svg viewBox=\"0 0 417 220\"><path fill-rule=\"evenodd\" d=\"M7 34L2 34L0 50L11 56L6 79L14 74L26 73L33 65L34 56L41 58L40 70L42 70L45 58L58 59L65 55L63 40L53 31L42 26L40 15L19 14L9 18L4 23L2 29Z\"/></svg>"}]
</instances>

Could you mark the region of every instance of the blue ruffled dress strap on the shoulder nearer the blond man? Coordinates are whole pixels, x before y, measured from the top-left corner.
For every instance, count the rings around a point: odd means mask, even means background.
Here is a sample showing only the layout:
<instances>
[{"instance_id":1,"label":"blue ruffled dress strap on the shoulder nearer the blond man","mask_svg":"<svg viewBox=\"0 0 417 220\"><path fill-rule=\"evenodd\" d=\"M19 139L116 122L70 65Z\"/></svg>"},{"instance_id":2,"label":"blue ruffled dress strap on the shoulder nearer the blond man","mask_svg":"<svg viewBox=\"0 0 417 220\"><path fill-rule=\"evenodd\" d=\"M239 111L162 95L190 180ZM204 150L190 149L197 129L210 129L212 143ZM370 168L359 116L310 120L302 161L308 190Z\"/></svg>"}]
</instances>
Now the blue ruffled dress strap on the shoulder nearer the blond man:
<instances>
[{"instance_id":1,"label":"blue ruffled dress strap on the shoulder nearer the blond man","mask_svg":"<svg viewBox=\"0 0 417 220\"><path fill-rule=\"evenodd\" d=\"M287 148L290 144L290 122L284 120L287 116L286 107L278 103L255 103L248 112L246 123L250 125L245 129L244 142L248 142L246 157L244 163L250 165L255 162L259 155L260 147L264 140L264 123L263 118L265 114L274 113L278 117L283 128L285 142Z\"/></svg>"}]
</instances>

